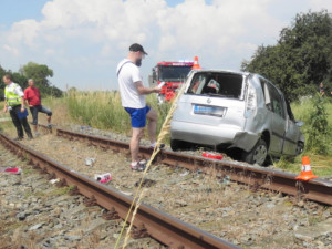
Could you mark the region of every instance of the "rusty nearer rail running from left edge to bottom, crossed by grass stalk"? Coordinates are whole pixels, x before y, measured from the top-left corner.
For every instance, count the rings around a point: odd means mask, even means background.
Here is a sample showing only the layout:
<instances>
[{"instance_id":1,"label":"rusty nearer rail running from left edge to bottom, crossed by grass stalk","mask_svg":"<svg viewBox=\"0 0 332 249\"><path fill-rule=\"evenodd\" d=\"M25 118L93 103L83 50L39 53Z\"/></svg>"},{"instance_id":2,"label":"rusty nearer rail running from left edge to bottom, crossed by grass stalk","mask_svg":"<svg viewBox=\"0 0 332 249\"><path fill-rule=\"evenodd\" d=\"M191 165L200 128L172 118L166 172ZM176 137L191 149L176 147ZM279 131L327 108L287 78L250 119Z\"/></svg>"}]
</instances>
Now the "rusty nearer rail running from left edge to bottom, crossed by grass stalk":
<instances>
[{"instance_id":1,"label":"rusty nearer rail running from left edge to bottom, crossed by grass stalk","mask_svg":"<svg viewBox=\"0 0 332 249\"><path fill-rule=\"evenodd\" d=\"M80 194L86 196L95 204L115 212L123 219L126 217L133 201L132 197L76 173L41 153L12 141L2 133L0 133L0 141L10 151L29 159L30 164L51 174L53 177L60 178L62 183L65 183L68 186L75 186ZM131 220L131 217L128 220ZM148 236L170 248L238 248L235 245L145 204L141 204L134 219L134 226L137 227L138 230L142 229L146 231Z\"/></svg>"}]
</instances>

